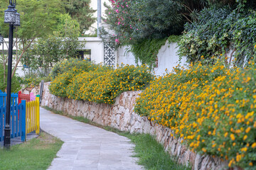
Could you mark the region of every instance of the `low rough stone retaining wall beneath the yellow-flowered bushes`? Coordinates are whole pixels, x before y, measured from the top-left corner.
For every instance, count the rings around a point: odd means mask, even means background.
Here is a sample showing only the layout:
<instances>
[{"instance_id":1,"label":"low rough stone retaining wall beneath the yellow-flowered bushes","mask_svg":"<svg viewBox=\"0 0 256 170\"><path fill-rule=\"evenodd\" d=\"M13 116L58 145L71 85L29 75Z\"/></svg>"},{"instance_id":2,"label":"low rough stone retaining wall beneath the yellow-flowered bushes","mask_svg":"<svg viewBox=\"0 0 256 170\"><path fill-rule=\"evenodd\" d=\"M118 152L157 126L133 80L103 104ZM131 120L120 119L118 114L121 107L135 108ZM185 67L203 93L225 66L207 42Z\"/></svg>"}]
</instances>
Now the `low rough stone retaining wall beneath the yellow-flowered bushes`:
<instances>
[{"instance_id":1,"label":"low rough stone retaining wall beneath the yellow-flowered bushes","mask_svg":"<svg viewBox=\"0 0 256 170\"><path fill-rule=\"evenodd\" d=\"M50 94L49 84L44 84L41 106L48 106L69 115L83 116L92 122L119 130L154 135L164 145L166 152L177 158L179 163L191 165L193 169L225 169L228 166L228 162L222 162L219 158L191 152L181 144L181 139L171 136L171 129L151 123L146 117L134 113L135 99L140 91L124 92L116 98L113 105L109 105L54 96Z\"/></svg>"}]
</instances>

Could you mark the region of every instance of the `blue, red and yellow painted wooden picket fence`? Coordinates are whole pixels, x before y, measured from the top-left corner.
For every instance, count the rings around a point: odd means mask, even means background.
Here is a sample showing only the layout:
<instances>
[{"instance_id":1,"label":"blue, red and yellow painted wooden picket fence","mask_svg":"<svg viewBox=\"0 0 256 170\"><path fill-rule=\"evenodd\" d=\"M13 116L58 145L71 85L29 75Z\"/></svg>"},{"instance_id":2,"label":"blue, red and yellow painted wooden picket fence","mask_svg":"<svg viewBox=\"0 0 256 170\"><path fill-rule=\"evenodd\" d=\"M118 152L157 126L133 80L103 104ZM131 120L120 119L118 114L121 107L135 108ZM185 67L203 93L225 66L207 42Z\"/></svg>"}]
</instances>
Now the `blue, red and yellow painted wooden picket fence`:
<instances>
[{"instance_id":1,"label":"blue, red and yellow painted wooden picket fence","mask_svg":"<svg viewBox=\"0 0 256 170\"><path fill-rule=\"evenodd\" d=\"M21 137L21 141L26 141L26 134L36 130L36 134L40 132L40 106L39 96L33 100L33 94L27 95L29 98L19 92L11 94L11 112L10 127L11 138ZM32 98L31 98L32 96ZM21 100L19 101L19 98ZM22 100L26 99L26 100ZM32 100L31 100L32 99ZM21 115L19 115L21 114ZM21 116L21 117L20 117ZM0 91L0 142L4 140L4 127L6 124L6 93Z\"/></svg>"}]
</instances>

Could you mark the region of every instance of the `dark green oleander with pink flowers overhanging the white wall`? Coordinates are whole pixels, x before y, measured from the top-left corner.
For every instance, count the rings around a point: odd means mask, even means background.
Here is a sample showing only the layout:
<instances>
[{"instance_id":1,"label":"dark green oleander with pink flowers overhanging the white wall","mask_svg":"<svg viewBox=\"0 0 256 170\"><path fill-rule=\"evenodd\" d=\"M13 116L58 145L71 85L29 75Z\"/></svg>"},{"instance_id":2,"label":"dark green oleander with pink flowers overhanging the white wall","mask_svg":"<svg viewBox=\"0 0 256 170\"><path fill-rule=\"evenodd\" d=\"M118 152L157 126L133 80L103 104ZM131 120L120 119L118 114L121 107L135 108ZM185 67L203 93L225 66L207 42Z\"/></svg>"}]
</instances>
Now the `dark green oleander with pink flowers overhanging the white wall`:
<instances>
[{"instance_id":1,"label":"dark green oleander with pink flowers overhanging the white wall","mask_svg":"<svg viewBox=\"0 0 256 170\"><path fill-rule=\"evenodd\" d=\"M206 1L176 0L112 0L107 7L105 22L114 34L107 38L118 45L132 44L148 38L166 38L180 35L183 24L192 22L193 16L207 5ZM102 30L102 38L107 32Z\"/></svg>"}]
</instances>

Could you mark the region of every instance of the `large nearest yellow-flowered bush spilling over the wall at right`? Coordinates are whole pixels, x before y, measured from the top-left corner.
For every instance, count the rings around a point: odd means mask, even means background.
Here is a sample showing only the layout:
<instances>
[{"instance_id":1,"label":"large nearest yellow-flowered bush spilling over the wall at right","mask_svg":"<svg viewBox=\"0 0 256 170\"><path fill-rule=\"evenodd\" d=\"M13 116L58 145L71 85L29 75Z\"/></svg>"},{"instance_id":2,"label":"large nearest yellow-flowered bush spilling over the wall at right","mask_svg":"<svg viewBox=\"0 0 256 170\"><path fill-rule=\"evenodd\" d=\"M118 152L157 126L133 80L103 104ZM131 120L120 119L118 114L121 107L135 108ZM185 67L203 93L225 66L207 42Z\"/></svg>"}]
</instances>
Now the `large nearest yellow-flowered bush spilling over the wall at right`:
<instances>
[{"instance_id":1,"label":"large nearest yellow-flowered bush spilling over the wall at right","mask_svg":"<svg viewBox=\"0 0 256 170\"><path fill-rule=\"evenodd\" d=\"M191 149L256 168L256 65L201 63L152 81L134 110L174 130Z\"/></svg>"}]
</instances>

